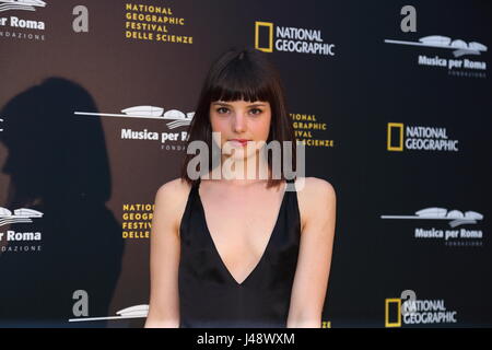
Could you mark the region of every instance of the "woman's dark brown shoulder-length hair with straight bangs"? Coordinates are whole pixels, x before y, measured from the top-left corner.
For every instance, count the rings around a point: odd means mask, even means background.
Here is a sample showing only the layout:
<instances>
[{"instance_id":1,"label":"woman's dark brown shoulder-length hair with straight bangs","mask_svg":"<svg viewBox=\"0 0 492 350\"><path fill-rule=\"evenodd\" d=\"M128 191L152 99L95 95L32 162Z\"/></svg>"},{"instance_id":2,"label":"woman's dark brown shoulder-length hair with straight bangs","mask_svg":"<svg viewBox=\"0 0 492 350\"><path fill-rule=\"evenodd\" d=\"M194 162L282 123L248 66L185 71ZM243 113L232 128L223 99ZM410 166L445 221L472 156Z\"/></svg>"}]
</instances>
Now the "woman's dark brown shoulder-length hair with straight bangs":
<instances>
[{"instance_id":1,"label":"woman's dark brown shoulder-length hair with straight bangs","mask_svg":"<svg viewBox=\"0 0 492 350\"><path fill-rule=\"evenodd\" d=\"M292 151L290 152L292 171L295 172L295 135L291 118L288 113L284 89L280 79L280 74L274 66L267 58L268 54L258 51L253 48L232 48L222 54L211 66L207 78L203 82L200 97L198 100L195 116L188 129L188 141L186 149L190 142L201 140L209 147L209 171L211 171L212 160L212 127L210 124L210 105L215 101L238 101L247 102L263 101L269 102L271 107L270 131L267 144L277 140L281 143L282 160L280 179L269 178L268 187L280 185L285 179L283 172L283 141L292 142ZM188 163L195 154L186 154L181 165L181 178L190 185L195 185L197 180L189 178L187 173ZM272 160L271 152L268 152L268 166L271 170ZM200 170L200 173L204 173Z\"/></svg>"}]
</instances>

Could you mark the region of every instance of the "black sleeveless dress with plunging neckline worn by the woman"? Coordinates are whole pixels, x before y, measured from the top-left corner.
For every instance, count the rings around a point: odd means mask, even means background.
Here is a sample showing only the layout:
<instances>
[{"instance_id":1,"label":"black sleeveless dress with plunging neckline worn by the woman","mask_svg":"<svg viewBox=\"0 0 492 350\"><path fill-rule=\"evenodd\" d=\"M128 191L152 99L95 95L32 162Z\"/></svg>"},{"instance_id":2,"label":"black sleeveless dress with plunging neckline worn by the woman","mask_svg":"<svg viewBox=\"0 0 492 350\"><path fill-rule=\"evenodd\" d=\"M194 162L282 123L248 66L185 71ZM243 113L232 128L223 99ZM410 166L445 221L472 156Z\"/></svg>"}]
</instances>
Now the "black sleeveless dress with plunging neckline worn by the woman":
<instances>
[{"instance_id":1,"label":"black sleeveless dress with plunging neckline worn by the woman","mask_svg":"<svg viewBox=\"0 0 492 350\"><path fill-rule=\"evenodd\" d=\"M284 328L301 240L293 180L285 184L263 255L242 283L230 273L212 241L199 186L191 187L179 228L179 327Z\"/></svg>"}]
</instances>

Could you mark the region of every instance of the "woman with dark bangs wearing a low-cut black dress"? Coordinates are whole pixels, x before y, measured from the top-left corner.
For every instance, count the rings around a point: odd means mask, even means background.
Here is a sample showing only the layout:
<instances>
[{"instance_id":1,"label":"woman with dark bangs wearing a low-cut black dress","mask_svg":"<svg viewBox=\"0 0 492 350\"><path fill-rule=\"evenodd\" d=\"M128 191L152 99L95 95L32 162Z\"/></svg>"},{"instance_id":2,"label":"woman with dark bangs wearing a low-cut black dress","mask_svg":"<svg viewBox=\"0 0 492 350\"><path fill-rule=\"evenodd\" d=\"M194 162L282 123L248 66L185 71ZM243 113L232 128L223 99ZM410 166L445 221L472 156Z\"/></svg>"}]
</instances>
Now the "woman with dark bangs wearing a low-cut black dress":
<instances>
[{"instance_id":1,"label":"woman with dark bangs wearing a low-cut black dress","mask_svg":"<svg viewBox=\"0 0 492 350\"><path fill-rule=\"evenodd\" d=\"M197 140L227 151L209 152L198 178L188 154L157 190L145 327L320 327L336 195L324 179L289 180L260 152L295 141L266 54L232 49L213 63L188 144Z\"/></svg>"}]
</instances>

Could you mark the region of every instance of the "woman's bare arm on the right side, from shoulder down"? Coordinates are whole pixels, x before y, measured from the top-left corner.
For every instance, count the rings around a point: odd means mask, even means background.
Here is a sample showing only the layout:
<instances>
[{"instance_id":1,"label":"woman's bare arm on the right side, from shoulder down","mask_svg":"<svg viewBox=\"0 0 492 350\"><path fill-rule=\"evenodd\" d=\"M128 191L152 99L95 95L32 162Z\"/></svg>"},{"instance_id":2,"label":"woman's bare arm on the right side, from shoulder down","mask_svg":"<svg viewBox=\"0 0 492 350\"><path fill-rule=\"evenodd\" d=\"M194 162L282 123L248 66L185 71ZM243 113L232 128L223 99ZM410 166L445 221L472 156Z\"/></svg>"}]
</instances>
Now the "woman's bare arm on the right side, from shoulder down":
<instances>
[{"instance_id":1,"label":"woman's bare arm on the right side, from shoulder down","mask_svg":"<svg viewBox=\"0 0 492 350\"><path fill-rule=\"evenodd\" d=\"M292 287L288 328L320 328L335 237L336 192L330 183L305 178L300 255ZM304 220L303 220L304 219Z\"/></svg>"}]
</instances>

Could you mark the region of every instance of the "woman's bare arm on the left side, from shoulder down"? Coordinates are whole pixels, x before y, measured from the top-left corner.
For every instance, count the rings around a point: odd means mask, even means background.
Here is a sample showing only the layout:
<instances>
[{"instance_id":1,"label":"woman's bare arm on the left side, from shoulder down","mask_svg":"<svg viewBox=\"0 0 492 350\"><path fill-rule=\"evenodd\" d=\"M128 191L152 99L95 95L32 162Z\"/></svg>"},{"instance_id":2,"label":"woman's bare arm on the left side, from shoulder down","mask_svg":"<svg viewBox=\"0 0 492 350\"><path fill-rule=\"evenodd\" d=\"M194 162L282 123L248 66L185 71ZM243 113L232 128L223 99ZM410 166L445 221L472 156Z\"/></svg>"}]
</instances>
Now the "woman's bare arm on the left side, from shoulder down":
<instances>
[{"instance_id":1,"label":"woman's bare arm on the left side, from shoulder down","mask_svg":"<svg viewBox=\"0 0 492 350\"><path fill-rule=\"evenodd\" d=\"M184 207L180 179L161 186L155 196L150 249L150 303L145 328L179 327L179 221Z\"/></svg>"}]
</instances>

